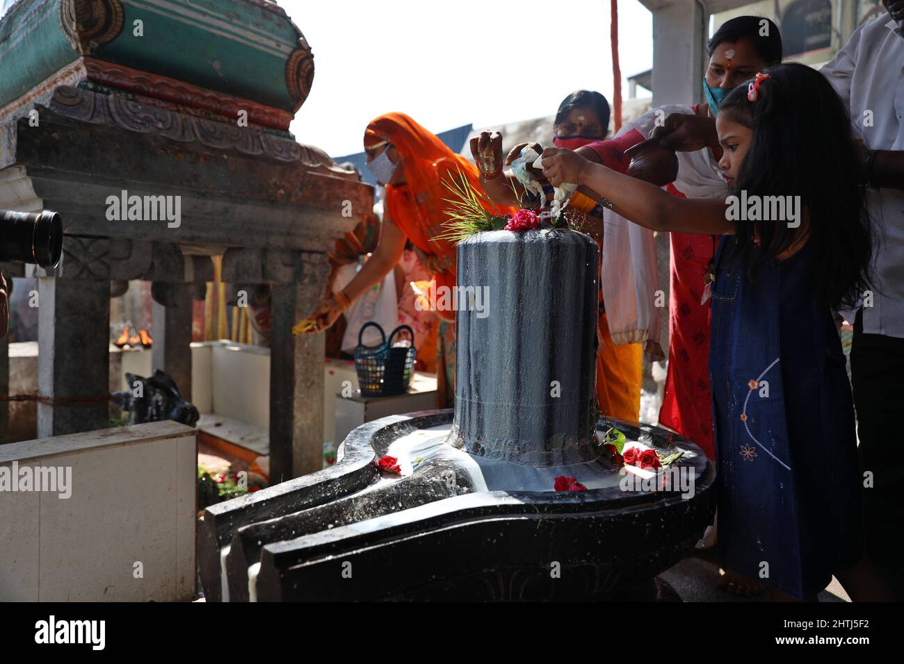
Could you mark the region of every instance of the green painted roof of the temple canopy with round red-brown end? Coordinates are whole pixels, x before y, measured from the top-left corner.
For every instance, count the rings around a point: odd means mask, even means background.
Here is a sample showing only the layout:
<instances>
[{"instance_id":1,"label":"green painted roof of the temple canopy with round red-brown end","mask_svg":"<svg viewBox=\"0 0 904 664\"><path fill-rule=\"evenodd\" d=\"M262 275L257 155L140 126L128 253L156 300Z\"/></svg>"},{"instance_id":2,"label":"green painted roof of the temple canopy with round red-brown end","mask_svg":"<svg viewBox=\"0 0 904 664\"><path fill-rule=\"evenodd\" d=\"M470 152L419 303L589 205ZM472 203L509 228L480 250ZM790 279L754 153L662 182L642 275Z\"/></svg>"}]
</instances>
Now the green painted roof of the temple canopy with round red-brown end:
<instances>
[{"instance_id":1,"label":"green painted roof of the temple canopy with round red-brown end","mask_svg":"<svg viewBox=\"0 0 904 664\"><path fill-rule=\"evenodd\" d=\"M148 90L154 77L180 81L289 119L314 78L304 35L269 0L19 0L9 7L0 21L0 108L79 66L116 70L133 82L143 77ZM90 72L84 78L97 81ZM180 102L192 106L191 98Z\"/></svg>"}]
</instances>

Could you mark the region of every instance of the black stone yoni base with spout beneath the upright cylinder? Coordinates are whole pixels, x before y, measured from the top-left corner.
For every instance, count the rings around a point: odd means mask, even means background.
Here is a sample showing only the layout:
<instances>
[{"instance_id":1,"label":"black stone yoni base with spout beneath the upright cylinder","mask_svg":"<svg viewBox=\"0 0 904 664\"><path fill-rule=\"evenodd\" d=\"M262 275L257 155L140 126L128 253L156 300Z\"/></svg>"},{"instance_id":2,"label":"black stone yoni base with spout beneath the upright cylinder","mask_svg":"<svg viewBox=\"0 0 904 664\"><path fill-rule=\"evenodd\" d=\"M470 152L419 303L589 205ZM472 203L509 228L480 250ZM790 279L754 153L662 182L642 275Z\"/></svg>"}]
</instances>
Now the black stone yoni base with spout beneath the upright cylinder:
<instances>
[{"instance_id":1,"label":"black stone yoni base with spout beneath the upright cylinder","mask_svg":"<svg viewBox=\"0 0 904 664\"><path fill-rule=\"evenodd\" d=\"M393 444L422 437L429 446L451 420L448 410L376 420L348 436L330 468L208 508L199 532L208 600L655 599L650 579L692 551L711 523L715 472L706 456L636 423L599 426L683 450L691 495L617 484L487 491L476 464L454 454L400 478L377 470Z\"/></svg>"}]
</instances>

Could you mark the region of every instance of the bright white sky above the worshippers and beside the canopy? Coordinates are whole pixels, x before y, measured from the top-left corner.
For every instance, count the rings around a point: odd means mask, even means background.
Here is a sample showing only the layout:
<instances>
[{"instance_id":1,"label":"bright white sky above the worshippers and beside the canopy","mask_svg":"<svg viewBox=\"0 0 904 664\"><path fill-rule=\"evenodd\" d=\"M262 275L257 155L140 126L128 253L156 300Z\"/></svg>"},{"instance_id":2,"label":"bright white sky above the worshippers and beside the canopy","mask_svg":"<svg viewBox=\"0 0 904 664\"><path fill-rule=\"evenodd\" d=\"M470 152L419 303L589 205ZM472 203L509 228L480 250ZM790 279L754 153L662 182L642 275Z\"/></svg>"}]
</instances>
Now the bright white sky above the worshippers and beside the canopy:
<instances>
[{"instance_id":1,"label":"bright white sky above the worshippers and beside the canopy","mask_svg":"<svg viewBox=\"0 0 904 664\"><path fill-rule=\"evenodd\" d=\"M278 0L314 51L291 130L328 154L360 152L390 111L430 131L549 116L576 89L612 101L609 0ZM653 63L652 15L618 3L622 95Z\"/></svg>"}]
</instances>

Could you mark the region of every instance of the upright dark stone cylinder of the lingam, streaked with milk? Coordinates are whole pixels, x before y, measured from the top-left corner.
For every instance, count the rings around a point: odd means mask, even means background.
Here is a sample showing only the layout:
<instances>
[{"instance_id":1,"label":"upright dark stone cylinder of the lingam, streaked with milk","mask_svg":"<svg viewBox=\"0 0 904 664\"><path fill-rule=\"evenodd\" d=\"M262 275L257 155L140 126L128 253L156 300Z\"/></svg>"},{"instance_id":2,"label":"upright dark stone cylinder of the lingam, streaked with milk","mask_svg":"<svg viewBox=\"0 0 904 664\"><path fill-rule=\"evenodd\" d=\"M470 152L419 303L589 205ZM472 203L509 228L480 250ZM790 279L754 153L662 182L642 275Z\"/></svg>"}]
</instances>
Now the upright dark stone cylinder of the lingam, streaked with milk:
<instances>
[{"instance_id":1,"label":"upright dark stone cylinder of the lingam, streaked with milk","mask_svg":"<svg viewBox=\"0 0 904 664\"><path fill-rule=\"evenodd\" d=\"M596 458L597 243L573 230L498 230L458 244L459 288L485 310L456 315L450 443L534 466Z\"/></svg>"}]
</instances>

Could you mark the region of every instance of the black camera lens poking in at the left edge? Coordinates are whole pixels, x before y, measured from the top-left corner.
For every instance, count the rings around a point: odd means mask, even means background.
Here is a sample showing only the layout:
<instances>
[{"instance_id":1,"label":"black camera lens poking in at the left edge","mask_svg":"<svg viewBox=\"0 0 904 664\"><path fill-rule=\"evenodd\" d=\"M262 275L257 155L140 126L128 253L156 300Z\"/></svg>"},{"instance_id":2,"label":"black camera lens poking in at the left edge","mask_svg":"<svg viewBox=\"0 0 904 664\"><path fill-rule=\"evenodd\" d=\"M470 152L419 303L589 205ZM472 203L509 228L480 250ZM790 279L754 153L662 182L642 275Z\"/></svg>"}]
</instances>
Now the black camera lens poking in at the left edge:
<instances>
[{"instance_id":1,"label":"black camera lens poking in at the left edge","mask_svg":"<svg viewBox=\"0 0 904 664\"><path fill-rule=\"evenodd\" d=\"M61 253L59 212L0 210L0 261L57 267Z\"/></svg>"}]
</instances>

